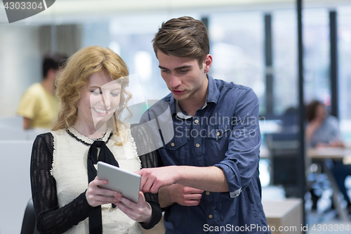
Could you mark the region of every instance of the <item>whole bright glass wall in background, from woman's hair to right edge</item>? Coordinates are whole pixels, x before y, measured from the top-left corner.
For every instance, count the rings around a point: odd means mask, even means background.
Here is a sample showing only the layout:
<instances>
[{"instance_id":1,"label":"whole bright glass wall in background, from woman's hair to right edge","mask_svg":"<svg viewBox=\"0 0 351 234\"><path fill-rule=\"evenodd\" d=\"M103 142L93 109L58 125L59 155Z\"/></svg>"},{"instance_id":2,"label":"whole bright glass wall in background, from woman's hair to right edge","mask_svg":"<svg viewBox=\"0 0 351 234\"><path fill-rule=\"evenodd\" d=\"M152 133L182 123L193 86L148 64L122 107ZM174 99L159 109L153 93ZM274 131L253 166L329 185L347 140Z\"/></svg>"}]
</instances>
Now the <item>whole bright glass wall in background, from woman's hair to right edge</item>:
<instances>
[{"instance_id":1,"label":"whole bright glass wall in background, from woman's hair to right edge","mask_svg":"<svg viewBox=\"0 0 351 234\"><path fill-rule=\"evenodd\" d=\"M338 9L339 108L342 126L351 118L351 20L350 8ZM272 71L265 68L265 14L272 15ZM209 74L250 86L260 99L260 115L267 116L265 72L272 72L273 112L284 119L298 108L297 22L294 8L272 11L217 11L216 13L143 13L84 22L83 46L108 46L125 60L131 74L138 74L145 99L168 94L154 56L152 39L161 22L181 15L208 18L213 65ZM329 9L303 10L305 103L313 99L331 103ZM270 93L268 93L270 95ZM295 119L296 121L296 119ZM347 123L347 122L346 122ZM297 124L295 122L294 124ZM264 126L263 126L264 127ZM345 127L344 127L345 129ZM351 132L350 129L345 131ZM351 135L350 135L351 138Z\"/></svg>"}]
</instances>

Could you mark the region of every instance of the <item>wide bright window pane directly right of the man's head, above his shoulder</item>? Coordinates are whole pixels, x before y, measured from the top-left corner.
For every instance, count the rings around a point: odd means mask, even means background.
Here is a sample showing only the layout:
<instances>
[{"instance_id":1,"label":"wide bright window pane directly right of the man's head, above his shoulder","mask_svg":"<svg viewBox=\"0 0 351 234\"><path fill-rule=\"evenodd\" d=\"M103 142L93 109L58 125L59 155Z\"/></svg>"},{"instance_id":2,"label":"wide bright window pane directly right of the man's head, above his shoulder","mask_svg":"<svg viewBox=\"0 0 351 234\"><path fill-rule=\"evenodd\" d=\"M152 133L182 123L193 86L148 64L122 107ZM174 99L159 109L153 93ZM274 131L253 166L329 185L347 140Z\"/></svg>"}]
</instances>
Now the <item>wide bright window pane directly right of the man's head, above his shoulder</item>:
<instances>
[{"instance_id":1,"label":"wide bright window pane directly right of the man's head, above his shoulder","mask_svg":"<svg viewBox=\"0 0 351 234\"><path fill-rule=\"evenodd\" d=\"M249 86L265 112L263 13L256 11L208 15L213 65L210 74Z\"/></svg>"}]
</instances>

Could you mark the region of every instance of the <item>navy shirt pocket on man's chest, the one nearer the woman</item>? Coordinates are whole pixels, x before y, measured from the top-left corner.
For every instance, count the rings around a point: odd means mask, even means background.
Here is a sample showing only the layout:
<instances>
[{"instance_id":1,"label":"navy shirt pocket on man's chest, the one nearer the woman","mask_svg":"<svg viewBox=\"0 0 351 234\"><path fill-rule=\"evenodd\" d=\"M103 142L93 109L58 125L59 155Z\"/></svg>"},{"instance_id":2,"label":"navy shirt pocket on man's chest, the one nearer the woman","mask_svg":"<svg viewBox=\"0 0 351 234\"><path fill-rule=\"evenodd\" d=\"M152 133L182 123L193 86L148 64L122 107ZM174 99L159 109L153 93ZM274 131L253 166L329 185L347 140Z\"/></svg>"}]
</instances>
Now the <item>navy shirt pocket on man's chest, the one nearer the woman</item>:
<instances>
[{"instance_id":1,"label":"navy shirt pocket on man's chest, the one nearer the woman","mask_svg":"<svg viewBox=\"0 0 351 234\"><path fill-rule=\"evenodd\" d=\"M189 155L189 144L185 136L174 136L160 149L162 160L165 166L184 165L185 155Z\"/></svg>"}]
</instances>

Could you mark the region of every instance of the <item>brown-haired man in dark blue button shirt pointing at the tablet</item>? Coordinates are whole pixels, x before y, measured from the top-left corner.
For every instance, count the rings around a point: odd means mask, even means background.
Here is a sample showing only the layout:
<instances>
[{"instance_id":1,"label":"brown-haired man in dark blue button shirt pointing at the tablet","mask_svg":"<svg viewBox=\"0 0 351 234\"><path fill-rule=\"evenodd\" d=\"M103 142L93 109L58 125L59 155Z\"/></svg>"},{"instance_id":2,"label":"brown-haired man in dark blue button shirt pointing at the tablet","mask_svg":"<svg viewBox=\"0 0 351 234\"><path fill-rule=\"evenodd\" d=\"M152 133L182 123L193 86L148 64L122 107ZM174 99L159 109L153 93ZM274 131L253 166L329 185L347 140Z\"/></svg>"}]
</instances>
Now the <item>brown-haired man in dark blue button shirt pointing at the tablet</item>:
<instances>
[{"instance_id":1,"label":"brown-haired man in dark blue button shirt pointing at the tablet","mask_svg":"<svg viewBox=\"0 0 351 234\"><path fill-rule=\"evenodd\" d=\"M159 191L166 233L270 233L260 201L257 96L207 74L213 58L199 20L164 22L153 46L175 136L158 150L168 167L138 174L143 192Z\"/></svg>"}]
</instances>

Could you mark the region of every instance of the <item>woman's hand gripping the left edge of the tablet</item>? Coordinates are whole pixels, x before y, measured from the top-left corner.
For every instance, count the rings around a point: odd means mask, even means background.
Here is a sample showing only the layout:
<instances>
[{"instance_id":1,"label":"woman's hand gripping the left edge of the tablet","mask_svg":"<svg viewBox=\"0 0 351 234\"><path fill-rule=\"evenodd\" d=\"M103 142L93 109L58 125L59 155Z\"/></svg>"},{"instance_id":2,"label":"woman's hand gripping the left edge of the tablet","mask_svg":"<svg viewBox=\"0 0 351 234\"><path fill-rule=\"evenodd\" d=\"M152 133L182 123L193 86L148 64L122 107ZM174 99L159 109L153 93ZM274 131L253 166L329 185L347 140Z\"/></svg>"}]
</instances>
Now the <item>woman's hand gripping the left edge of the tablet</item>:
<instances>
[{"instance_id":1,"label":"woman's hand gripping the left edge of the tablet","mask_svg":"<svg viewBox=\"0 0 351 234\"><path fill-rule=\"evenodd\" d=\"M99 180L98 177L95 177L91 183L88 185L86 190L86 200L91 207L98 207L102 204L109 204L118 202L120 193L112 191L105 188L99 188L98 186L106 185L108 181Z\"/></svg>"}]
</instances>

